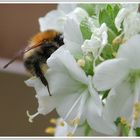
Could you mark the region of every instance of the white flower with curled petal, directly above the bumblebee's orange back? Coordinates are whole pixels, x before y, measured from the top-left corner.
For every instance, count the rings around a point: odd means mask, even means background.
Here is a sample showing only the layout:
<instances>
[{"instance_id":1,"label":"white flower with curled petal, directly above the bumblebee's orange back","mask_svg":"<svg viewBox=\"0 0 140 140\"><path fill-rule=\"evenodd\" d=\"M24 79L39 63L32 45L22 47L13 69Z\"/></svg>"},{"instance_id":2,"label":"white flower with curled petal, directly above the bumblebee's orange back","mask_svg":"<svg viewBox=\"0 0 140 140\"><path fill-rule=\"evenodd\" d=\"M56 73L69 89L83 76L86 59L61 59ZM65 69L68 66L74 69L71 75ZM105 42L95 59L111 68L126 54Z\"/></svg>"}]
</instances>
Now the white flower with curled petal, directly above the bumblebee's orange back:
<instances>
[{"instance_id":1,"label":"white flower with curled petal, directly above the bumblebee's orange back","mask_svg":"<svg viewBox=\"0 0 140 140\"><path fill-rule=\"evenodd\" d=\"M40 31L55 29L63 32L67 18L72 18L80 23L85 17L88 17L88 13L80 7L76 8L75 4L60 4L57 10L53 10L45 17L39 18Z\"/></svg>"}]
</instances>

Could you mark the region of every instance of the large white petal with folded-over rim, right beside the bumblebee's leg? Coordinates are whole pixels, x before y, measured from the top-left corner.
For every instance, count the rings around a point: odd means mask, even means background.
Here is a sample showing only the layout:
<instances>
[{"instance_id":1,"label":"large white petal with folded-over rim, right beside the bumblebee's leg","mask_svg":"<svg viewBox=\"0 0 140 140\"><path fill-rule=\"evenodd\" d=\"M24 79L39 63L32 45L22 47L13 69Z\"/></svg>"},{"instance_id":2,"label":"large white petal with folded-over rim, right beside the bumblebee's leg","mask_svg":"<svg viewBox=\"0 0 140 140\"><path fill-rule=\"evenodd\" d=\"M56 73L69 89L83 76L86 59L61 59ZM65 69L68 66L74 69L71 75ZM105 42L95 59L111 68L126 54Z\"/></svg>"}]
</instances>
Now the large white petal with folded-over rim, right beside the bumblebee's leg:
<instances>
[{"instance_id":1,"label":"large white petal with folded-over rim, right beside the bumblebee's leg","mask_svg":"<svg viewBox=\"0 0 140 140\"><path fill-rule=\"evenodd\" d=\"M57 50L47 61L47 79L53 94L76 93L87 85L85 72L77 65L68 50Z\"/></svg>"}]
</instances>

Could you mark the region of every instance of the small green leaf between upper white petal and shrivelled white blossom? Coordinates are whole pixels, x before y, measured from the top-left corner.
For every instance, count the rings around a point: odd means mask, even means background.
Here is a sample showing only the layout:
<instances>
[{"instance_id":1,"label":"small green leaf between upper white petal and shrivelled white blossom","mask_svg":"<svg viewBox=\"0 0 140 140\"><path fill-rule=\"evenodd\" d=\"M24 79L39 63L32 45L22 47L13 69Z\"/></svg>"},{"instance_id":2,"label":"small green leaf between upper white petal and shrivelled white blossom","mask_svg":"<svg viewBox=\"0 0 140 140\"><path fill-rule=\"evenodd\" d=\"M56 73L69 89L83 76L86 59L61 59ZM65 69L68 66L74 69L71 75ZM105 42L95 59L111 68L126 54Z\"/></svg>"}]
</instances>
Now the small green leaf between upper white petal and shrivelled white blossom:
<instances>
[{"instance_id":1,"label":"small green leaf between upper white petal and shrivelled white blossom","mask_svg":"<svg viewBox=\"0 0 140 140\"><path fill-rule=\"evenodd\" d=\"M92 32L90 30L90 27L87 24L87 20L86 19L81 21L81 23L80 23L80 30L82 32L82 36L83 36L84 40L91 38Z\"/></svg>"}]
</instances>

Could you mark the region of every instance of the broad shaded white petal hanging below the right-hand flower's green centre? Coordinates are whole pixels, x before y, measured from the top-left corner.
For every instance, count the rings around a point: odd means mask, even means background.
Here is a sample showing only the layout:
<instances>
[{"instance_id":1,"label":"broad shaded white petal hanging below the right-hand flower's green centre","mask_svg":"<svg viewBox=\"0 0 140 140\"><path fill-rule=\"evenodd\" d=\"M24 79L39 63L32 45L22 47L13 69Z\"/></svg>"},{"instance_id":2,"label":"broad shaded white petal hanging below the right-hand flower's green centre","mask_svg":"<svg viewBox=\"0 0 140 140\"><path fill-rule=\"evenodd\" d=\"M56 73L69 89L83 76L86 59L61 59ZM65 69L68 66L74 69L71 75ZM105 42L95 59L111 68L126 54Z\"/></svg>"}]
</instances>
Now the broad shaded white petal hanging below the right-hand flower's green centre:
<instances>
[{"instance_id":1,"label":"broad shaded white petal hanging below the right-hand flower's green centre","mask_svg":"<svg viewBox=\"0 0 140 140\"><path fill-rule=\"evenodd\" d=\"M133 91L133 87L125 81L113 88L107 97L103 116L111 123L114 123L118 117L124 117L129 121L133 108Z\"/></svg>"}]
</instances>

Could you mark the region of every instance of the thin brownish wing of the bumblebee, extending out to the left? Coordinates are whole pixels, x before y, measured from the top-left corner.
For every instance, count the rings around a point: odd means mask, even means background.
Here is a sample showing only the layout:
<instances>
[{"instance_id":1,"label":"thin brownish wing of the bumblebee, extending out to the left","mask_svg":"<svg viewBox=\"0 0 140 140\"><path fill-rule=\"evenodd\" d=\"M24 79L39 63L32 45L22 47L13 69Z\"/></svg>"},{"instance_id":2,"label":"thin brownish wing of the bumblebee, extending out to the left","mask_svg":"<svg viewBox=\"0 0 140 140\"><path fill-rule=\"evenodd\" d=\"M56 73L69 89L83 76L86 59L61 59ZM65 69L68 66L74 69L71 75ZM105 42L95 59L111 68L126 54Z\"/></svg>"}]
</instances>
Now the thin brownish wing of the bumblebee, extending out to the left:
<instances>
[{"instance_id":1,"label":"thin brownish wing of the bumblebee, extending out to the left","mask_svg":"<svg viewBox=\"0 0 140 140\"><path fill-rule=\"evenodd\" d=\"M21 57L23 54L25 54L26 52L34 49L34 48L37 48L37 47L40 47L42 43L39 43L37 45L33 45L31 47L27 46L26 48L24 49L21 49L19 52L17 52L17 54L6 64L3 66L3 68L7 68L11 63L13 63L16 59L18 59L19 57Z\"/></svg>"}]
</instances>

